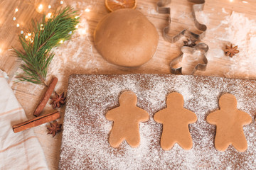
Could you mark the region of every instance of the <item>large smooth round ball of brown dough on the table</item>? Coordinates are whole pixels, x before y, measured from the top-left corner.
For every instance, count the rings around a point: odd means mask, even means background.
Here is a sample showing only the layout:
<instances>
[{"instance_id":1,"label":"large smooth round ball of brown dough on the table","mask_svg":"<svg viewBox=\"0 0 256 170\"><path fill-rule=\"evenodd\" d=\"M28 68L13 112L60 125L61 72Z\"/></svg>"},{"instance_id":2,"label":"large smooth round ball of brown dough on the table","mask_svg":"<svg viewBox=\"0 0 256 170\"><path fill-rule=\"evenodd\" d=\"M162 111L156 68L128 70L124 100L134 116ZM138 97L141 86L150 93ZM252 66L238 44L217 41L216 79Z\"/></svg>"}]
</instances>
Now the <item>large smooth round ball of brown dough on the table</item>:
<instances>
[{"instance_id":1,"label":"large smooth round ball of brown dough on the table","mask_svg":"<svg viewBox=\"0 0 256 170\"><path fill-rule=\"evenodd\" d=\"M137 67L153 57L159 35L146 16L126 8L107 14L97 24L94 40L98 52L108 62Z\"/></svg>"}]
</instances>

